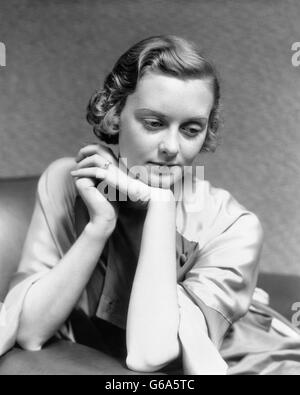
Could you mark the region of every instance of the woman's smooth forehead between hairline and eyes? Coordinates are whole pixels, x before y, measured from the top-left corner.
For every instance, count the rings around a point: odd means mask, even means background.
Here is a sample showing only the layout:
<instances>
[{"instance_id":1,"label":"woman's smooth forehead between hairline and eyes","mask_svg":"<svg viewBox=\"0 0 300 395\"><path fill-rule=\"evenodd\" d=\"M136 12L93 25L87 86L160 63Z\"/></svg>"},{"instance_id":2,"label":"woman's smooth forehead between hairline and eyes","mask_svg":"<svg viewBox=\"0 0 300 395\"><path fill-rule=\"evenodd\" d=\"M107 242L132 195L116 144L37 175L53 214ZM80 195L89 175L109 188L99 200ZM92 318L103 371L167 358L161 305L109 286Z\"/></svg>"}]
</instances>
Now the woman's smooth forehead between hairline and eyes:
<instances>
[{"instance_id":1,"label":"woman's smooth forehead between hairline and eyes","mask_svg":"<svg viewBox=\"0 0 300 395\"><path fill-rule=\"evenodd\" d=\"M210 114L214 95L209 81L146 74L128 98L133 110L150 109L166 115L180 112L186 117Z\"/></svg>"}]
</instances>

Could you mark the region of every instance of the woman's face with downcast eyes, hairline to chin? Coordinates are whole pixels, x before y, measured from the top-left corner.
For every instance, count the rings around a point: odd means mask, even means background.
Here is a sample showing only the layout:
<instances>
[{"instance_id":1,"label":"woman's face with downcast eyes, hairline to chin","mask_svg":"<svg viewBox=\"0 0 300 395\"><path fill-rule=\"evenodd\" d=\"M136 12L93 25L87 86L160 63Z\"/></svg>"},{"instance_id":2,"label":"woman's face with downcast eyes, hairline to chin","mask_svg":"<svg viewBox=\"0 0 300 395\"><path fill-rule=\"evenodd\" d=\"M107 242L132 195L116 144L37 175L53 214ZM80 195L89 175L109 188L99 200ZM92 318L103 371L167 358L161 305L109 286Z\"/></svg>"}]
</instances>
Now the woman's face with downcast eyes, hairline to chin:
<instances>
[{"instance_id":1,"label":"woman's face with downcast eyes, hairline to chin","mask_svg":"<svg viewBox=\"0 0 300 395\"><path fill-rule=\"evenodd\" d=\"M180 180L204 144L213 101L208 81L146 73L119 120L119 153L131 174L163 188Z\"/></svg>"}]
</instances>

